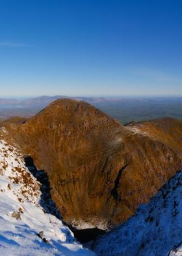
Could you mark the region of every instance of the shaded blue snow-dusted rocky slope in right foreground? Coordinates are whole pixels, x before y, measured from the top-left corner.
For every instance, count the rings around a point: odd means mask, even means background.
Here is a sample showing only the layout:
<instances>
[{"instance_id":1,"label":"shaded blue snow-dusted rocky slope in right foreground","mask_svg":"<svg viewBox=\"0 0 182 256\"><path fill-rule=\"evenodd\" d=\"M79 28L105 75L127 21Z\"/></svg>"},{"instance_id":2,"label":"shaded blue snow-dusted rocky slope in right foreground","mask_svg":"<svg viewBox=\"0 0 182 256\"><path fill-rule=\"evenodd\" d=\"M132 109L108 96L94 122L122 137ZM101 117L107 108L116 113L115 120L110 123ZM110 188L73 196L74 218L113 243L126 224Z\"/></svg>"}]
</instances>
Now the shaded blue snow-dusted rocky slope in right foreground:
<instances>
[{"instance_id":1,"label":"shaded blue snow-dusted rocky slope in right foreground","mask_svg":"<svg viewBox=\"0 0 182 256\"><path fill-rule=\"evenodd\" d=\"M182 172L164 185L149 204L142 204L122 225L98 238L99 255L181 256Z\"/></svg>"}]
</instances>

